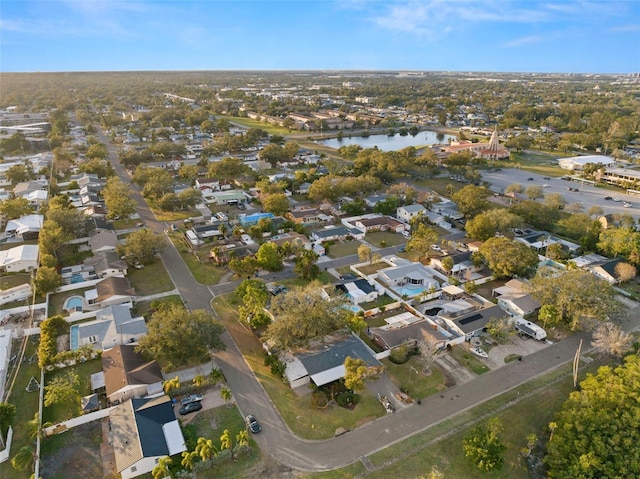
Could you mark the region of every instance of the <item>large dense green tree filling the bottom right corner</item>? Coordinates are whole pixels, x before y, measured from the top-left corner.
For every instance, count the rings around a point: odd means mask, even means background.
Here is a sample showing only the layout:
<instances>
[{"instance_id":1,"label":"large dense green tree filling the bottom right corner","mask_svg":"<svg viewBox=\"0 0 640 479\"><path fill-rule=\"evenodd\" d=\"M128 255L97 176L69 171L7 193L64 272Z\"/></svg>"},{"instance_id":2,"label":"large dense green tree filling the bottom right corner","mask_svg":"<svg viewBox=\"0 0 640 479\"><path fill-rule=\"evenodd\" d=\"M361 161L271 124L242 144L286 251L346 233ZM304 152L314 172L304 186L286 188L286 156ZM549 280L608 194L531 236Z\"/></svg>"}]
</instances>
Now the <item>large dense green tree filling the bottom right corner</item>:
<instances>
[{"instance_id":1,"label":"large dense green tree filling the bottom right corner","mask_svg":"<svg viewBox=\"0 0 640 479\"><path fill-rule=\"evenodd\" d=\"M554 418L547 443L548 477L637 477L640 464L640 357L588 374Z\"/></svg>"}]
</instances>

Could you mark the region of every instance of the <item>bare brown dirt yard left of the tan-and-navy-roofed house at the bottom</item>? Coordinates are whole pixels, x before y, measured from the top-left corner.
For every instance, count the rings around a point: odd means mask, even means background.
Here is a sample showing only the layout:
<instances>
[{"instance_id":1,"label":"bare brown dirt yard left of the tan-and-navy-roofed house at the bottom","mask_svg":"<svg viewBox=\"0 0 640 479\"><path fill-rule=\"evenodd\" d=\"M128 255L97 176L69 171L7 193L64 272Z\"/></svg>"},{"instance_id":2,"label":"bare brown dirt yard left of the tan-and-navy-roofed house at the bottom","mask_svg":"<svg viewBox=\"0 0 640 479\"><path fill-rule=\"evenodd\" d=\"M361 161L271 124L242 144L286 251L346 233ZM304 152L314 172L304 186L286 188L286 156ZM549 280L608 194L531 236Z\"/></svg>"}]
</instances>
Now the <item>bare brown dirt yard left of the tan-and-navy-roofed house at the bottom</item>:
<instances>
[{"instance_id":1,"label":"bare brown dirt yard left of the tan-and-navy-roofed house at the bottom","mask_svg":"<svg viewBox=\"0 0 640 479\"><path fill-rule=\"evenodd\" d=\"M51 451L43 454L40 469L42 477L48 479L103 477L100 421L74 427L48 441L56 441L59 444L52 445Z\"/></svg>"}]
</instances>

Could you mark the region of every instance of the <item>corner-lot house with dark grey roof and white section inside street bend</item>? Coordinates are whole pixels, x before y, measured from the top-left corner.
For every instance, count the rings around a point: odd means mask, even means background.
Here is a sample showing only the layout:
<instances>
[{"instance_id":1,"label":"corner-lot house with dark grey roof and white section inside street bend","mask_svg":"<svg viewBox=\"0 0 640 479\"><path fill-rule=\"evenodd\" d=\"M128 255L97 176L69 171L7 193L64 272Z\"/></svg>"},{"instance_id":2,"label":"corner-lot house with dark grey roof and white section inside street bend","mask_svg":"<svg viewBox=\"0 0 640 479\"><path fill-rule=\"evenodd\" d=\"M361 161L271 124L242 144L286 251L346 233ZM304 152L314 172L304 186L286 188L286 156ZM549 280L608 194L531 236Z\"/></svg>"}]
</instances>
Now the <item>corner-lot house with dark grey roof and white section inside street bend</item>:
<instances>
[{"instance_id":1,"label":"corner-lot house with dark grey roof and white section inside street bend","mask_svg":"<svg viewBox=\"0 0 640 479\"><path fill-rule=\"evenodd\" d=\"M362 359L369 367L380 367L373 351L352 334L336 334L304 351L281 355L286 364L285 377L292 388L313 383L320 387L344 377L347 357Z\"/></svg>"}]
</instances>

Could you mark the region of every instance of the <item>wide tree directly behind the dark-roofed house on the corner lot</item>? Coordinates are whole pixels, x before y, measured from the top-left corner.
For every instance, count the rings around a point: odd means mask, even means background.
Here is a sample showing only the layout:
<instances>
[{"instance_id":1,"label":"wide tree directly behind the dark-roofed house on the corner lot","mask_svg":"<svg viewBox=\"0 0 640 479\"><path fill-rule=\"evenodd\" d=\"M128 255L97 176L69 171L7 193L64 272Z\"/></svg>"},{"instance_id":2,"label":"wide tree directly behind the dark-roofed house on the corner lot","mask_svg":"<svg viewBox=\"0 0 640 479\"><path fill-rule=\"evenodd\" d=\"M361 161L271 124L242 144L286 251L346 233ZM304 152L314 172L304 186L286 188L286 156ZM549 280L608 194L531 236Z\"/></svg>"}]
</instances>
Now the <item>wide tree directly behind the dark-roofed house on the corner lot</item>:
<instances>
[{"instance_id":1,"label":"wide tree directly behind the dark-roofed house on the corner lot","mask_svg":"<svg viewBox=\"0 0 640 479\"><path fill-rule=\"evenodd\" d=\"M346 305L346 298L340 295L325 299L317 282L293 288L271 301L276 320L267 327L265 337L280 349L304 345L348 326L352 313Z\"/></svg>"}]
</instances>

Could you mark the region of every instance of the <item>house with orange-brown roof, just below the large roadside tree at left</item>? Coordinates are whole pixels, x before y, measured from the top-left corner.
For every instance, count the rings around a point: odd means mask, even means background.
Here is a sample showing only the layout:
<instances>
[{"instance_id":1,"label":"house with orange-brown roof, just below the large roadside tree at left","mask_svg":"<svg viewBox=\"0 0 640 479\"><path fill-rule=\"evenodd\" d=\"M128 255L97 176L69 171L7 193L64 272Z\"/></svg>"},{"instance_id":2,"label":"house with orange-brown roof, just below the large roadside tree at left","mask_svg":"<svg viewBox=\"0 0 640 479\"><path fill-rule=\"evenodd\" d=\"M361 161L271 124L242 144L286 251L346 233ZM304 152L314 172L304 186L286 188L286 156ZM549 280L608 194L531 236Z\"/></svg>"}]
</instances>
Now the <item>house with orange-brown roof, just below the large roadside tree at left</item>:
<instances>
[{"instance_id":1,"label":"house with orange-brown roof, just below the large roadside tree at left","mask_svg":"<svg viewBox=\"0 0 640 479\"><path fill-rule=\"evenodd\" d=\"M146 361L135 346L121 344L102 353L107 399L112 404L162 392L162 371L156 361Z\"/></svg>"}]
</instances>

